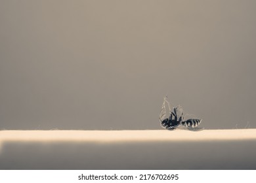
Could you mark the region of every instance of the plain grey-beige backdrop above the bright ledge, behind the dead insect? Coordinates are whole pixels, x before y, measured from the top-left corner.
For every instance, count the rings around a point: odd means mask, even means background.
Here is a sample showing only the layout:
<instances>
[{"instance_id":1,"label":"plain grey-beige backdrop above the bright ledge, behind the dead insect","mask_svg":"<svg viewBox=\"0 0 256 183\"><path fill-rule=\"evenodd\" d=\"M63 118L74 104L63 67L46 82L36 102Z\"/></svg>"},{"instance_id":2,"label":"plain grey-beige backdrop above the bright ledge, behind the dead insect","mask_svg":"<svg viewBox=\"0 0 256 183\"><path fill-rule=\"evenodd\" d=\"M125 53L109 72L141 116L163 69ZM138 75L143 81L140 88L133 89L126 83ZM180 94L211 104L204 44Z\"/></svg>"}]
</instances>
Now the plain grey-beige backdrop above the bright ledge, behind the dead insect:
<instances>
[{"instance_id":1,"label":"plain grey-beige backdrop above the bright ledge, behind the dead insect","mask_svg":"<svg viewBox=\"0 0 256 183\"><path fill-rule=\"evenodd\" d=\"M256 1L0 1L1 129L256 127Z\"/></svg>"}]
</instances>

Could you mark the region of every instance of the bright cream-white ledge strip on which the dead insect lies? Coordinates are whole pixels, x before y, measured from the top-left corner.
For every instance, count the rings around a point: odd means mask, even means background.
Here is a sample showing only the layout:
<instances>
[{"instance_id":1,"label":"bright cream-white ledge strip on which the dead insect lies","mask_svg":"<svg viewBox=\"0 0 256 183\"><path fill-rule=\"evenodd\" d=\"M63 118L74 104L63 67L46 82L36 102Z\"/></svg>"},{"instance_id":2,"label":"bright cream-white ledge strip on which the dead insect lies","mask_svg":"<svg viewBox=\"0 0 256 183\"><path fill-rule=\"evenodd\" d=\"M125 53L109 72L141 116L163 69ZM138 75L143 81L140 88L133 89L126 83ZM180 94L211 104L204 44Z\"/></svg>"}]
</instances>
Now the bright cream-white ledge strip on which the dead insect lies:
<instances>
[{"instance_id":1,"label":"bright cream-white ledge strip on which the dead insect lies","mask_svg":"<svg viewBox=\"0 0 256 183\"><path fill-rule=\"evenodd\" d=\"M256 140L256 129L167 130L4 130L0 143L9 141L238 141Z\"/></svg>"}]
</instances>

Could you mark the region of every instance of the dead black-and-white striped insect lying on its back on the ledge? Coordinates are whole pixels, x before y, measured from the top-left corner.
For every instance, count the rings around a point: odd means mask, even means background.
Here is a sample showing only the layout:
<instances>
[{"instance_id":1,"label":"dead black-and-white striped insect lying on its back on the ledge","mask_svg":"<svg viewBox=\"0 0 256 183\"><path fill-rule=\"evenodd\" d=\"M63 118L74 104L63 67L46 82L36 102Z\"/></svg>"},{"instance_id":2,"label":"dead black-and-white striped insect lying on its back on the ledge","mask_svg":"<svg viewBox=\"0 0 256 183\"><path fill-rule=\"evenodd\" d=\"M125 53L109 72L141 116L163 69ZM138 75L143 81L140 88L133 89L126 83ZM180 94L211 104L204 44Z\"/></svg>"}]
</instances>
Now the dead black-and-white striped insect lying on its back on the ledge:
<instances>
[{"instance_id":1,"label":"dead black-and-white striped insect lying on its back on the ledge","mask_svg":"<svg viewBox=\"0 0 256 183\"><path fill-rule=\"evenodd\" d=\"M165 108L165 104L167 104L169 109L169 118L165 118L167 115L167 111ZM203 128L197 127L201 124L201 119L188 119L184 120L184 112L181 107L181 105L178 105L177 107L173 107L173 111L171 110L171 107L169 105L169 102L167 101L167 97L163 98L163 105L161 107L159 120L161 122L161 127L167 129L167 130L175 130L175 129L187 129L190 131L200 131Z\"/></svg>"}]
</instances>

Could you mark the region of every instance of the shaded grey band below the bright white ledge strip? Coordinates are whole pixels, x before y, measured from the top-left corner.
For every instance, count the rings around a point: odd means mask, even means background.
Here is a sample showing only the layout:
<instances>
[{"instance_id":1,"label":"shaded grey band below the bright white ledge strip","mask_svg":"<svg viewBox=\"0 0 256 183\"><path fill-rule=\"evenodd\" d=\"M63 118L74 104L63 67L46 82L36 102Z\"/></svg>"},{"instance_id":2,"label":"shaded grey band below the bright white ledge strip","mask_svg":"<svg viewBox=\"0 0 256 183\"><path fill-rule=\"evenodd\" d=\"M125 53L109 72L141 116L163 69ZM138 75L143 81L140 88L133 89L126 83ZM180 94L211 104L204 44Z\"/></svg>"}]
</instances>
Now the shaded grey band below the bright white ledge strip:
<instances>
[{"instance_id":1,"label":"shaded grey band below the bright white ledge strip","mask_svg":"<svg viewBox=\"0 0 256 183\"><path fill-rule=\"evenodd\" d=\"M255 141L8 142L2 146L0 169L255 170L255 145Z\"/></svg>"}]
</instances>

